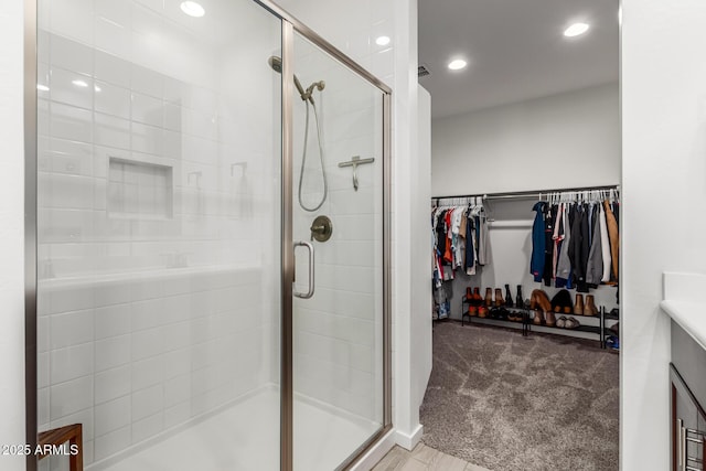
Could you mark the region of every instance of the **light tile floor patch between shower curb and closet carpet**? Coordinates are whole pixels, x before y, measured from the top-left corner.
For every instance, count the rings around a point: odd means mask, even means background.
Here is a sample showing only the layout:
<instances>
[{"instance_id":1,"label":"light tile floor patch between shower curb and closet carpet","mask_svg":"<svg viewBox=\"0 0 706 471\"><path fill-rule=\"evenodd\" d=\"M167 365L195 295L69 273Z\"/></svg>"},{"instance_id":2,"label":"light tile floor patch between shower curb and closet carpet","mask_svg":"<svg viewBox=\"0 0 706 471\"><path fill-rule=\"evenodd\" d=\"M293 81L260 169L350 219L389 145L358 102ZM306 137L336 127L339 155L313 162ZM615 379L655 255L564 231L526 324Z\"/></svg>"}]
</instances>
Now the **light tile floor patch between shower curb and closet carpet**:
<instances>
[{"instance_id":1,"label":"light tile floor patch between shower curb and closet carpet","mask_svg":"<svg viewBox=\"0 0 706 471\"><path fill-rule=\"evenodd\" d=\"M395 446L373 471L489 471L419 442L407 451Z\"/></svg>"}]
</instances>

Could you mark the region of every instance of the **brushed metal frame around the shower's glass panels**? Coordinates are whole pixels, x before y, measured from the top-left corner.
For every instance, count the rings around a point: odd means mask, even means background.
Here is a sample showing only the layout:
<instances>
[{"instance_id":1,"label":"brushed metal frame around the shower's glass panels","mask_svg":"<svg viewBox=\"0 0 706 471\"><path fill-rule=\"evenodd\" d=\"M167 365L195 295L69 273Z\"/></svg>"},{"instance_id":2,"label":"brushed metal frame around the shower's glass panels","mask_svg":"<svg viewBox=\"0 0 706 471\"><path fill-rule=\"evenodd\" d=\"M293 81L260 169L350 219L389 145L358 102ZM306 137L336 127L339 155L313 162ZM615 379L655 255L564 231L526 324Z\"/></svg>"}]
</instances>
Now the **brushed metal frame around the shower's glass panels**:
<instances>
[{"instance_id":1,"label":"brushed metal frame around the shower's glass panels","mask_svg":"<svg viewBox=\"0 0 706 471\"><path fill-rule=\"evenodd\" d=\"M392 322L391 322L391 156L392 156L392 89L355 61L321 38L269 0L253 0L281 20L282 41L282 213L281 213L281 364L280 364L280 471L293 469L293 376L292 376L292 287L293 254L293 76L295 32L320 47L349 71L383 93L383 424L379 430L362 443L340 469L350 468L392 429ZM38 341L36 341L36 251L38 251L38 0L24 1L24 345L25 345L25 439L34 449L38 443ZM34 454L26 456L26 470L36 471Z\"/></svg>"}]
</instances>

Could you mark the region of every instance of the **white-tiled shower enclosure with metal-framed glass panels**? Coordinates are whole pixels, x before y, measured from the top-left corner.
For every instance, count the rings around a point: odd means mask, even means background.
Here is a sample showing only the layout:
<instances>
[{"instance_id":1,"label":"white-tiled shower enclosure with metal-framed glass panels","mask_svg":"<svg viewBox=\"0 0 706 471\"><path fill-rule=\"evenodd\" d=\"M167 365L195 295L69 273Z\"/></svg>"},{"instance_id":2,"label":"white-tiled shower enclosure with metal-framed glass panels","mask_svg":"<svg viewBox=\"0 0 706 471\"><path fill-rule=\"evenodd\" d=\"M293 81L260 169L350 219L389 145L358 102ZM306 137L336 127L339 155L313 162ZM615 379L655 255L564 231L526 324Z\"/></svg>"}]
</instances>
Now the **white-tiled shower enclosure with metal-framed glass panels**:
<instances>
[{"instance_id":1,"label":"white-tiled shower enclosure with metal-framed glass panels","mask_svg":"<svg viewBox=\"0 0 706 471\"><path fill-rule=\"evenodd\" d=\"M389 89L267 1L39 0L32 41L30 440L351 464L391 427Z\"/></svg>"}]
</instances>

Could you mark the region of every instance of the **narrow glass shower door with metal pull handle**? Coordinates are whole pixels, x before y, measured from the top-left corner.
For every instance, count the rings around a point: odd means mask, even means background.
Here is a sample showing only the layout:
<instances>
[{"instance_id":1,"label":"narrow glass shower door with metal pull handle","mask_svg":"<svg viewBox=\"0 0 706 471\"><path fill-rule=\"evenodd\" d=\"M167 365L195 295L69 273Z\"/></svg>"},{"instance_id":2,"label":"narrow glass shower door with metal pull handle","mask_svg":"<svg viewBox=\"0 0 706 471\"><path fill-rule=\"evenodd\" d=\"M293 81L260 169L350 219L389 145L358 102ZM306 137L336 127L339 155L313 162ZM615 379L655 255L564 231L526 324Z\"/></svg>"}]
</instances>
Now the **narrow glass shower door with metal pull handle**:
<instances>
[{"instance_id":1,"label":"narrow glass shower door with metal pull handle","mask_svg":"<svg viewBox=\"0 0 706 471\"><path fill-rule=\"evenodd\" d=\"M293 468L328 471L384 424L383 93L298 34L293 72Z\"/></svg>"}]
</instances>

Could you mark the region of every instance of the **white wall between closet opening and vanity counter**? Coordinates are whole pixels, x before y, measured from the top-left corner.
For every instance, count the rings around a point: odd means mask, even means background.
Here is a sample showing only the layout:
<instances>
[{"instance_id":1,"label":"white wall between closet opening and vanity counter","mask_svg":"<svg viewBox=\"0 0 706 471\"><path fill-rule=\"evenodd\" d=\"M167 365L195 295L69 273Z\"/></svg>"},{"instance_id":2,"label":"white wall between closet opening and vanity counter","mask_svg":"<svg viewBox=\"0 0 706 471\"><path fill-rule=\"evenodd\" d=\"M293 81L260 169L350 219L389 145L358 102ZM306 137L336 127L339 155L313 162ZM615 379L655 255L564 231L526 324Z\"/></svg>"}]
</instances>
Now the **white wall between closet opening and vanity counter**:
<instances>
[{"instance_id":1,"label":"white wall between closet opening and vanity counter","mask_svg":"<svg viewBox=\"0 0 706 471\"><path fill-rule=\"evenodd\" d=\"M622 1L623 471L670 465L662 271L704 272L706 3ZM662 224L660 215L678 222ZM656 216L656 218L655 218Z\"/></svg>"}]
</instances>

